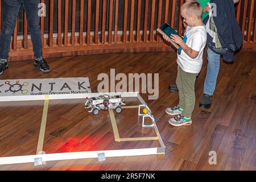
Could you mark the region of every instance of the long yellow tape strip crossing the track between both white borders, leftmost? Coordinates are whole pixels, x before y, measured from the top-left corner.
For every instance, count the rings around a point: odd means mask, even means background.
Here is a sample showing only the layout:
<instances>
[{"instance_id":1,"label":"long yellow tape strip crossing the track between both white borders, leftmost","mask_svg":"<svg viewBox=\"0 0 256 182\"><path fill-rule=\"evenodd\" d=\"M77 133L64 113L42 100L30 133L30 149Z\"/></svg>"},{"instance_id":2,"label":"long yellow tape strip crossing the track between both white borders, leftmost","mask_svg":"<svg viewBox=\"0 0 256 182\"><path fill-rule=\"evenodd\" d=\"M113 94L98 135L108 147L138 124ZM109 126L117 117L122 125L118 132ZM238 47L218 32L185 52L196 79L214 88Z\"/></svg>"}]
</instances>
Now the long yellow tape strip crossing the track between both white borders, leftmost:
<instances>
[{"instance_id":1,"label":"long yellow tape strip crossing the track between both white borders, leftmost","mask_svg":"<svg viewBox=\"0 0 256 182\"><path fill-rule=\"evenodd\" d=\"M44 133L46 132L48 106L49 106L49 95L46 95L44 98L44 110L43 110L42 122L40 127L39 138L38 138L38 148L36 149L36 154L39 154L40 151L43 151Z\"/></svg>"}]
</instances>

